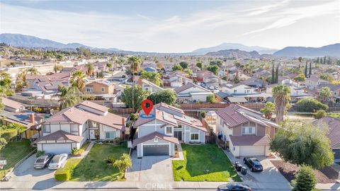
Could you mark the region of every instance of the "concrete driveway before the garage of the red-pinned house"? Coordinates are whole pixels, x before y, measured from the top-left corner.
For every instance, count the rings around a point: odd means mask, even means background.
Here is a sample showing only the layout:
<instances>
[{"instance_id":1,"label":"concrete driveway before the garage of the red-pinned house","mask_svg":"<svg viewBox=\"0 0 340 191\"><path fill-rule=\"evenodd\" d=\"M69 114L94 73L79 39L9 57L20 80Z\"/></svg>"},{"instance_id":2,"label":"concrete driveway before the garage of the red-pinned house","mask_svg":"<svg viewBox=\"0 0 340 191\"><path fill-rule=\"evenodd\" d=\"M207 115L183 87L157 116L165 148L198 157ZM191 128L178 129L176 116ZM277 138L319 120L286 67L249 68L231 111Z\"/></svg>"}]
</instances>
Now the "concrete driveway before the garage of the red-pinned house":
<instances>
[{"instance_id":1,"label":"concrete driveway before the garage of the red-pinned house","mask_svg":"<svg viewBox=\"0 0 340 191\"><path fill-rule=\"evenodd\" d=\"M128 181L169 183L174 181L172 158L169 156L144 156L137 158L132 151L132 168L128 169Z\"/></svg>"}]
</instances>

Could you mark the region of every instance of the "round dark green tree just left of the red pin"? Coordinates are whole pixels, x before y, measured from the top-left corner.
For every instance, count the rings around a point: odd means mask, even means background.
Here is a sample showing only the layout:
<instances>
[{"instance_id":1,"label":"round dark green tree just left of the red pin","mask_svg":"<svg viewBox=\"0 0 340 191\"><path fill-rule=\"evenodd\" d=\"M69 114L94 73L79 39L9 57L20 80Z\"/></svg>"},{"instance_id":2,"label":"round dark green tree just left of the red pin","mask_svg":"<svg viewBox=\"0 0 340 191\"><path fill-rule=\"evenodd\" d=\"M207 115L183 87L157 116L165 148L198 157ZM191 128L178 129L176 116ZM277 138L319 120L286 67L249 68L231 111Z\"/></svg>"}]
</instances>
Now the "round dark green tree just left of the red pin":
<instances>
[{"instance_id":1,"label":"round dark green tree just left of the red pin","mask_svg":"<svg viewBox=\"0 0 340 191\"><path fill-rule=\"evenodd\" d=\"M135 95L133 96L133 93ZM140 86L131 86L124 89L121 100L128 108L134 110L140 110L142 107L142 101L149 96L149 91L143 91Z\"/></svg>"}]
</instances>

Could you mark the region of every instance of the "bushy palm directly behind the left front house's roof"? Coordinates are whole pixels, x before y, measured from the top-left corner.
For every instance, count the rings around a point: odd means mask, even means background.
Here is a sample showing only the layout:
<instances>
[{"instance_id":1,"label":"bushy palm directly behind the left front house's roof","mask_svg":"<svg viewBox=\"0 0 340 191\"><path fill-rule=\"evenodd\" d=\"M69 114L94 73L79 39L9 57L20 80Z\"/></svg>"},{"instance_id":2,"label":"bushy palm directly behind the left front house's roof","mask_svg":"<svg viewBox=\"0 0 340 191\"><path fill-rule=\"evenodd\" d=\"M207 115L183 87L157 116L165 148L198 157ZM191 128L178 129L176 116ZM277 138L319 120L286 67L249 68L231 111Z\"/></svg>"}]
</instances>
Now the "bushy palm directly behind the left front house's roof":
<instances>
[{"instance_id":1,"label":"bushy palm directly behind the left front house's roof","mask_svg":"<svg viewBox=\"0 0 340 191\"><path fill-rule=\"evenodd\" d=\"M59 107L60 110L64 108L69 108L81 101L79 96L79 89L77 87L66 87L60 86L59 87L60 94L58 94L59 100Z\"/></svg>"}]
</instances>

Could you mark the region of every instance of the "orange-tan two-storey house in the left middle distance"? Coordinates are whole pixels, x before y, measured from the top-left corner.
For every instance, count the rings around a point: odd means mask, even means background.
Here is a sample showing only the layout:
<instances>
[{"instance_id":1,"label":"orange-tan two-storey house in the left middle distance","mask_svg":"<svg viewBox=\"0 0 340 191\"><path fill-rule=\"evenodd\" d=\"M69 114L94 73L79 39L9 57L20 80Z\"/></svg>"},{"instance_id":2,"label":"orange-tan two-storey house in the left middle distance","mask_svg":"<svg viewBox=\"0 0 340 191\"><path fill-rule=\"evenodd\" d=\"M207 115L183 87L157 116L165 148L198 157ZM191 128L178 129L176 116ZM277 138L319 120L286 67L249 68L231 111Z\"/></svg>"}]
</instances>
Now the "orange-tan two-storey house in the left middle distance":
<instances>
[{"instance_id":1,"label":"orange-tan two-storey house in the left middle distance","mask_svg":"<svg viewBox=\"0 0 340 191\"><path fill-rule=\"evenodd\" d=\"M90 96L96 96L98 99L115 98L115 88L111 81L91 81L86 83L83 93Z\"/></svg>"}]
</instances>

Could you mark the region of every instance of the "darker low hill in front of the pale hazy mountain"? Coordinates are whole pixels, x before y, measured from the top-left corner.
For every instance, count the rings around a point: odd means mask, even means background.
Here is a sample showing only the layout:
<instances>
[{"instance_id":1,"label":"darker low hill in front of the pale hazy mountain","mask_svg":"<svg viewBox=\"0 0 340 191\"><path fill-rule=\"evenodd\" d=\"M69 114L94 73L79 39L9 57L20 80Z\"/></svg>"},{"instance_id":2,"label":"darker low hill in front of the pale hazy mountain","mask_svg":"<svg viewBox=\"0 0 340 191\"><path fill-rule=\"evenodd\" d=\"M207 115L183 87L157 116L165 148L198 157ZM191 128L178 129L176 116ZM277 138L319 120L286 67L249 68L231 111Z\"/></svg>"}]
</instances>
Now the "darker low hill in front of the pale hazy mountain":
<instances>
[{"instance_id":1,"label":"darker low hill in front of the pale hazy mountain","mask_svg":"<svg viewBox=\"0 0 340 191\"><path fill-rule=\"evenodd\" d=\"M250 59L259 58L261 55L259 52L251 51L246 52L243 50L230 49L230 50L220 50L217 52L208 52L205 56L209 57L228 57L228 58L239 58L239 59Z\"/></svg>"}]
</instances>

